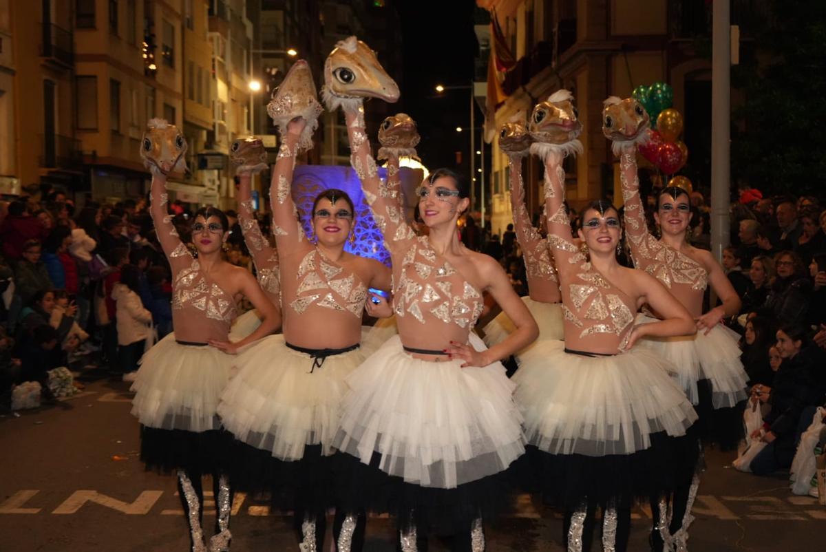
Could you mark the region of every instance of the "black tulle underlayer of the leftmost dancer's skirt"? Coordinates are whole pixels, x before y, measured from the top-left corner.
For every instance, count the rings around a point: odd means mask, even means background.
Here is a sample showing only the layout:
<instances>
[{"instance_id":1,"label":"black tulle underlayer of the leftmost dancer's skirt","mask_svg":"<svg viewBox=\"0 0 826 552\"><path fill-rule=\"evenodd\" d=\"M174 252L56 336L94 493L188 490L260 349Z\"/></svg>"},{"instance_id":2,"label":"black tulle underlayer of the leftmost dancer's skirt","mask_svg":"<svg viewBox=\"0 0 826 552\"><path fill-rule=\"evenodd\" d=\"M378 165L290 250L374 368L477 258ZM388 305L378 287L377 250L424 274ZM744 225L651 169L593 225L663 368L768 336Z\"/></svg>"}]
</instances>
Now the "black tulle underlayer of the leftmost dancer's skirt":
<instances>
[{"instance_id":1,"label":"black tulle underlayer of the leftmost dancer's skirt","mask_svg":"<svg viewBox=\"0 0 826 552\"><path fill-rule=\"evenodd\" d=\"M162 430L140 426L140 461L146 469L173 473L226 473L233 439L223 430Z\"/></svg>"}]
</instances>

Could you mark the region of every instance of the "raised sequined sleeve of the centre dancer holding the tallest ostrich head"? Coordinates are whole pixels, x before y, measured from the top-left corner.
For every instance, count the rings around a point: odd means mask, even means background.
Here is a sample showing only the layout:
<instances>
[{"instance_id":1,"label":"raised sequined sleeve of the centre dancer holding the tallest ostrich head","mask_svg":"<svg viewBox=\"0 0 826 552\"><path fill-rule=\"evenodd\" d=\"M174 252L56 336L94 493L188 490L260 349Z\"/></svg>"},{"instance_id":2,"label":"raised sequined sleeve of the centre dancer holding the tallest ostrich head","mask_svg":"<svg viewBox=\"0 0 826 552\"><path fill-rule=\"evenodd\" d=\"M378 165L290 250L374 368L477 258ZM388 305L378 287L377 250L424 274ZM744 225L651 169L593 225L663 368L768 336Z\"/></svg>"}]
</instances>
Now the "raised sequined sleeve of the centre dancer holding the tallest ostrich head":
<instances>
[{"instance_id":1,"label":"raised sequined sleeve of the centre dancer holding the tallest ostrich head","mask_svg":"<svg viewBox=\"0 0 826 552\"><path fill-rule=\"evenodd\" d=\"M394 192L389 178L387 184L382 184L381 178L378 178L376 161L370 153L370 141L364 132L363 107L359 106L358 112L345 110L344 116L352 152L350 164L361 180L364 199L370 206L376 226L382 231L387 249L394 250L402 242L414 238L415 233L405 221L398 188Z\"/></svg>"}]
</instances>

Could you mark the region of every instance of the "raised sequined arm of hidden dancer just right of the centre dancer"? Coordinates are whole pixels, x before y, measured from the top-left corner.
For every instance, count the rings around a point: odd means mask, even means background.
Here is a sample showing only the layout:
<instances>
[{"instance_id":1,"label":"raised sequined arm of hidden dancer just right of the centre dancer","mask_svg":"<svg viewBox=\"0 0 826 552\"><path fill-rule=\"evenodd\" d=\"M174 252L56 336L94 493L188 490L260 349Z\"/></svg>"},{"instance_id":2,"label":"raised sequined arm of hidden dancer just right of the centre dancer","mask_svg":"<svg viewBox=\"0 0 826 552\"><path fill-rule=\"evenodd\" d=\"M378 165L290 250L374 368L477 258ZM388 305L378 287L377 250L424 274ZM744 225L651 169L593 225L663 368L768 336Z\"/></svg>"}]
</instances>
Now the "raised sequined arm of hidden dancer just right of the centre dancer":
<instances>
[{"instance_id":1,"label":"raised sequined arm of hidden dancer just right of the centre dancer","mask_svg":"<svg viewBox=\"0 0 826 552\"><path fill-rule=\"evenodd\" d=\"M510 208L513 212L516 240L525 259L525 271L529 276L558 280L556 270L548 258L548 242L534 227L525 207L525 181L522 179L522 161L510 157Z\"/></svg>"}]
</instances>

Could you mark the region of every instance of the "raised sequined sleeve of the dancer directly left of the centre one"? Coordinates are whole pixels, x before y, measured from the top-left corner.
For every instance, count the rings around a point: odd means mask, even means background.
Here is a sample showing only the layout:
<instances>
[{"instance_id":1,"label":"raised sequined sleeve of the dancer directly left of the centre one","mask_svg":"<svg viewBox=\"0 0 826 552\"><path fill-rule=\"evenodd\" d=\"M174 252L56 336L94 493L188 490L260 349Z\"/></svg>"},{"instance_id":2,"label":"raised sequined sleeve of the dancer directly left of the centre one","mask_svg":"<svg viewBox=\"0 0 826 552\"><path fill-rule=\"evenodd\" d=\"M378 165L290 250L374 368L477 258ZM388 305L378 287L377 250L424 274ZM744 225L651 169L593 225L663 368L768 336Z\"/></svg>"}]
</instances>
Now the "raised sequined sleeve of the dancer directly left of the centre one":
<instances>
[{"instance_id":1,"label":"raised sequined sleeve of the dancer directly left of the centre one","mask_svg":"<svg viewBox=\"0 0 826 552\"><path fill-rule=\"evenodd\" d=\"M273 210L273 235L279 250L306 239L296 204L292 201L292 171L296 168L298 135L282 132L281 147L269 183L269 201Z\"/></svg>"}]
</instances>

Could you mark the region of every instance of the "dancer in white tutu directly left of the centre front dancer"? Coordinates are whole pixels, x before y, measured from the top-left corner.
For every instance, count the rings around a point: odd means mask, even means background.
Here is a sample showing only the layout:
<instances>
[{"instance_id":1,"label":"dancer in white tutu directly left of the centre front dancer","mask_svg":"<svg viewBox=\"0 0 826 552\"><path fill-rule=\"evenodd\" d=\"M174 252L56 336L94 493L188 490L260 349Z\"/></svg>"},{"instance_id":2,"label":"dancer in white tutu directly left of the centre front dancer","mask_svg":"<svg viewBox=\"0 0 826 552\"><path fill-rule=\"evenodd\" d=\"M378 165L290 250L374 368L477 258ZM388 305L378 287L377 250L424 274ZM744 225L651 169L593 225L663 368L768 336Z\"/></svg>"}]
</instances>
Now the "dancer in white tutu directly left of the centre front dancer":
<instances>
[{"instance_id":1,"label":"dancer in white tutu directly left of the centre front dancer","mask_svg":"<svg viewBox=\"0 0 826 552\"><path fill-rule=\"evenodd\" d=\"M312 235L296 217L291 183L299 150L312 146L321 111L306 61L293 64L268 112L281 146L270 199L282 288L283 334L240 355L218 412L240 441L236 481L269 491L273 507L294 512L300 550L322 550L326 512L335 505L330 458L347 390L363 360L358 350L368 288L390 289L390 270L344 251L354 236L354 205L328 189L316 197ZM368 308L372 308L370 303ZM349 535L363 539L361 523ZM337 535L344 515L336 516Z\"/></svg>"}]
</instances>

